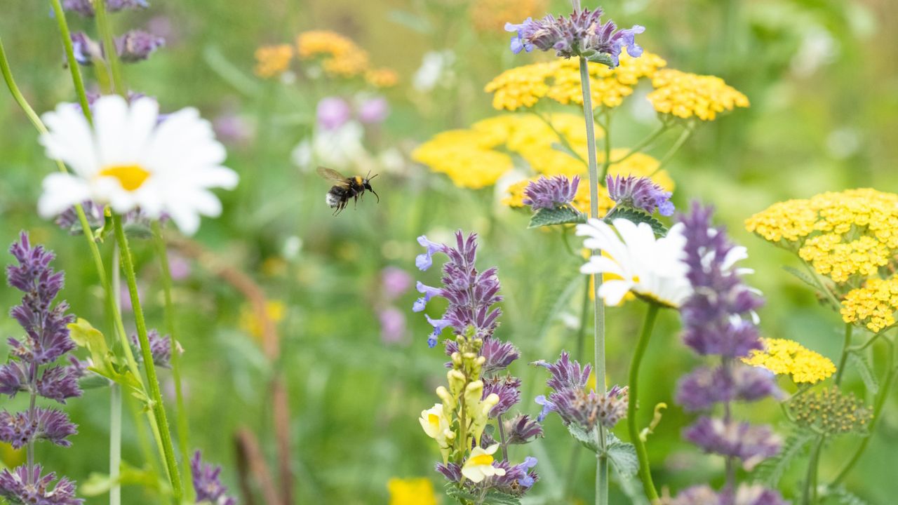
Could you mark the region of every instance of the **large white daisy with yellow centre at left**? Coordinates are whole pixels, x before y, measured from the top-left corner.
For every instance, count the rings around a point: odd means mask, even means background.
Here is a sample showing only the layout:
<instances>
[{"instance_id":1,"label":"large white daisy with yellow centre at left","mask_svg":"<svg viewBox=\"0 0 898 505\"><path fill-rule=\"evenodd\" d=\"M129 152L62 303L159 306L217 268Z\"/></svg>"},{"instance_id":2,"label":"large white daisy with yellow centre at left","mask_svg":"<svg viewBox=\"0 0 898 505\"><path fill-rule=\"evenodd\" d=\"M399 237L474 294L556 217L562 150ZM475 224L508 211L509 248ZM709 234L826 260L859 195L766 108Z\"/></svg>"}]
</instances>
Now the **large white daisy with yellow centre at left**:
<instances>
[{"instance_id":1,"label":"large white daisy with yellow centre at left","mask_svg":"<svg viewBox=\"0 0 898 505\"><path fill-rule=\"evenodd\" d=\"M40 143L72 172L44 179L42 217L93 200L118 214L140 208L147 217L167 215L192 235L200 215L221 214L221 202L209 190L233 189L237 174L222 166L225 147L196 109L160 118L151 98L128 104L109 95L94 102L92 111L93 127L70 103L43 115L49 131Z\"/></svg>"}]
</instances>

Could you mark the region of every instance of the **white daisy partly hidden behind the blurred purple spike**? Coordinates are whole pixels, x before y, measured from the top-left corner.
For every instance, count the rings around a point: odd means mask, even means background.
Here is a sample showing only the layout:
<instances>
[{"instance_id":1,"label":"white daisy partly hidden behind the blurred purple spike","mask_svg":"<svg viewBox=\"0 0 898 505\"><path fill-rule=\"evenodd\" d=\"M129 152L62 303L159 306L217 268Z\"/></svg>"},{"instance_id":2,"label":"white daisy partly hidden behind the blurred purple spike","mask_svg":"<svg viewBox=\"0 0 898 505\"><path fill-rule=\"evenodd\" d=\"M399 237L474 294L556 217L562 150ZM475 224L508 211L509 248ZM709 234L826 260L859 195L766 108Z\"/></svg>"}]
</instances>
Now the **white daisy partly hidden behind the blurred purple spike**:
<instances>
[{"instance_id":1,"label":"white daisy partly hidden behind the blurred purple spike","mask_svg":"<svg viewBox=\"0 0 898 505\"><path fill-rule=\"evenodd\" d=\"M605 280L599 288L605 305L619 305L629 292L672 307L679 307L690 297L681 224L672 226L661 238L656 238L646 223L615 219L612 224L614 229L604 221L590 219L585 225L577 225L577 235L586 236L584 247L603 252L602 256L591 257L580 271L620 278Z\"/></svg>"}]
</instances>

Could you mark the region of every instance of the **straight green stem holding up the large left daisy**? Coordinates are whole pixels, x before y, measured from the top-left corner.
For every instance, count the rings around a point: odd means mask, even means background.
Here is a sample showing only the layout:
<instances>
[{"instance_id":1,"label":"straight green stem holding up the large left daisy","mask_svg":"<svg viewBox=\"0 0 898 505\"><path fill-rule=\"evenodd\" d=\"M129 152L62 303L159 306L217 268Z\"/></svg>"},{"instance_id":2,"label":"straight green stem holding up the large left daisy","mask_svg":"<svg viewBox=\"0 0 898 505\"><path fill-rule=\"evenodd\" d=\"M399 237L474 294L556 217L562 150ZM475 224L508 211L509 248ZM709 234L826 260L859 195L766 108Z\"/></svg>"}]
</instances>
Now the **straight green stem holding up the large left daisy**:
<instances>
[{"instance_id":1,"label":"straight green stem holding up the large left daisy","mask_svg":"<svg viewBox=\"0 0 898 505\"><path fill-rule=\"evenodd\" d=\"M175 405L177 407L176 423L178 426L178 448L180 450L181 465L184 471L184 488L191 492L191 474L189 468L189 430L187 422L187 410L184 408L184 394L180 377L180 344L175 337L174 304L172 304L172 270L169 268L168 249L165 247L162 226L159 221L153 222L153 239L156 246L156 255L159 256L162 268L163 295L165 299L165 329L169 333L169 342L172 347L172 379L174 379ZM190 498L190 497L188 497Z\"/></svg>"}]
</instances>

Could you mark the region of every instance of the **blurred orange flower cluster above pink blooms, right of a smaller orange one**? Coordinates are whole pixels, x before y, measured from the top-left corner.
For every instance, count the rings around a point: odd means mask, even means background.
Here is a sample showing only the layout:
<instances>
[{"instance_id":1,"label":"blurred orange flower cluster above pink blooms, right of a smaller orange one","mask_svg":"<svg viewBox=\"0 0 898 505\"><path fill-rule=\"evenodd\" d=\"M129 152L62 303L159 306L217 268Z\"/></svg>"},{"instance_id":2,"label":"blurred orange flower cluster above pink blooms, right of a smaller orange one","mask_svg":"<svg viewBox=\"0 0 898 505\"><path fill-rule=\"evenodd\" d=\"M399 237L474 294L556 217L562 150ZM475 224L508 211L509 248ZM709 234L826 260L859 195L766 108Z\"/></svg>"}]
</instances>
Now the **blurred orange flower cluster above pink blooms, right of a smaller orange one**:
<instances>
[{"instance_id":1,"label":"blurred orange flower cluster above pink blooms, right of a smaller orange one","mask_svg":"<svg viewBox=\"0 0 898 505\"><path fill-rule=\"evenodd\" d=\"M330 77L362 76L375 87L389 87L399 80L389 68L372 68L365 49L334 31L300 33L296 37L296 55L301 60L320 59L321 68Z\"/></svg>"}]
</instances>

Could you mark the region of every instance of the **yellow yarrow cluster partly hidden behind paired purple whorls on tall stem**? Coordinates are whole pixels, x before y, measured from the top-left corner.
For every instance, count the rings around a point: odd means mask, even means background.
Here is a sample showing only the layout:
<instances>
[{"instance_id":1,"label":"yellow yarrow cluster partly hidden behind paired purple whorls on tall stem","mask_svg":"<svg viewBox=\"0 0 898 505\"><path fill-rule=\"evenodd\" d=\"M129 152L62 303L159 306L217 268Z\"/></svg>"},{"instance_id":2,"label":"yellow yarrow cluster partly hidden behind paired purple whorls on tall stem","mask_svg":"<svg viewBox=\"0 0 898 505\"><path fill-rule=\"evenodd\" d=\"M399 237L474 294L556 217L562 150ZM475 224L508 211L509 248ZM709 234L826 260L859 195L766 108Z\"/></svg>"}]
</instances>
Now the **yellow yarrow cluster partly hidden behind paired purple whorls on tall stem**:
<instances>
[{"instance_id":1,"label":"yellow yarrow cluster partly hidden behind paired purple whorls on tall stem","mask_svg":"<svg viewBox=\"0 0 898 505\"><path fill-rule=\"evenodd\" d=\"M629 153L628 149L612 149L612 160L621 159L625 155ZM563 153L562 153L563 154ZM599 163L603 163L604 161L604 153L599 153ZM574 159L568 155L568 158ZM580 212L585 214L589 213L590 210L590 199L589 199L589 183L586 182L587 179L585 177L586 167L583 162L579 160L575 160L577 162L578 170L571 170L568 172L568 168L570 165L568 164L559 164L557 165L556 171L543 171L541 172L543 175L552 176L552 175L581 175L580 185L577 186L577 196L574 198L574 201L571 202L571 206L577 208ZM646 155L644 153L635 153L633 155L629 155L626 159L621 161L620 163L612 163L608 167L608 173L610 175L620 175L626 177L628 175L635 175L638 177L650 177L653 182L655 182L658 186L661 186L666 191L674 190L674 180L671 179L670 174L668 174L665 170L657 171L658 168L658 160L653 158L650 155ZM657 172L656 172L657 171ZM505 199L502 200L502 203L507 205L508 207L524 207L524 189L526 189L527 185L530 182L539 179L539 177L532 177L530 179L526 179L521 182L515 182L508 187L508 194ZM614 202L608 196L608 190L600 184L599 189L599 215L606 214L611 208L614 206Z\"/></svg>"}]
</instances>

